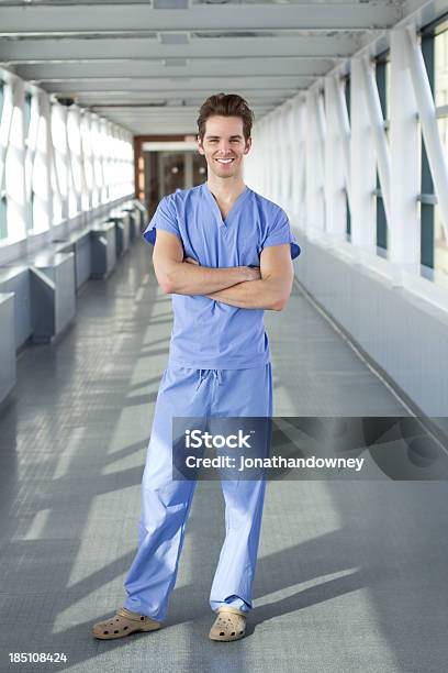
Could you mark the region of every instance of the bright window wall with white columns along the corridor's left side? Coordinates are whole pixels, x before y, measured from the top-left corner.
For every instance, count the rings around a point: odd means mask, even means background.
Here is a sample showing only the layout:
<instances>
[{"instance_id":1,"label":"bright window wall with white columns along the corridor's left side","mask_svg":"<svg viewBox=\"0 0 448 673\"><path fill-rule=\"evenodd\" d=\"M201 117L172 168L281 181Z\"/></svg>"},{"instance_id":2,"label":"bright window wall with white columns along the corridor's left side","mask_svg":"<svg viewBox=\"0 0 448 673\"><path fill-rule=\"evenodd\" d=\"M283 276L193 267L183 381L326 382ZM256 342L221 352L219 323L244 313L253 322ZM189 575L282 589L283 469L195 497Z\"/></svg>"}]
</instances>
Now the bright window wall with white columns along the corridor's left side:
<instances>
[{"instance_id":1,"label":"bright window wall with white columns along the corridor's left side","mask_svg":"<svg viewBox=\"0 0 448 673\"><path fill-rule=\"evenodd\" d=\"M133 192L128 132L77 106L52 104L45 91L0 74L0 137L8 137L0 154L3 245Z\"/></svg>"}]
</instances>

